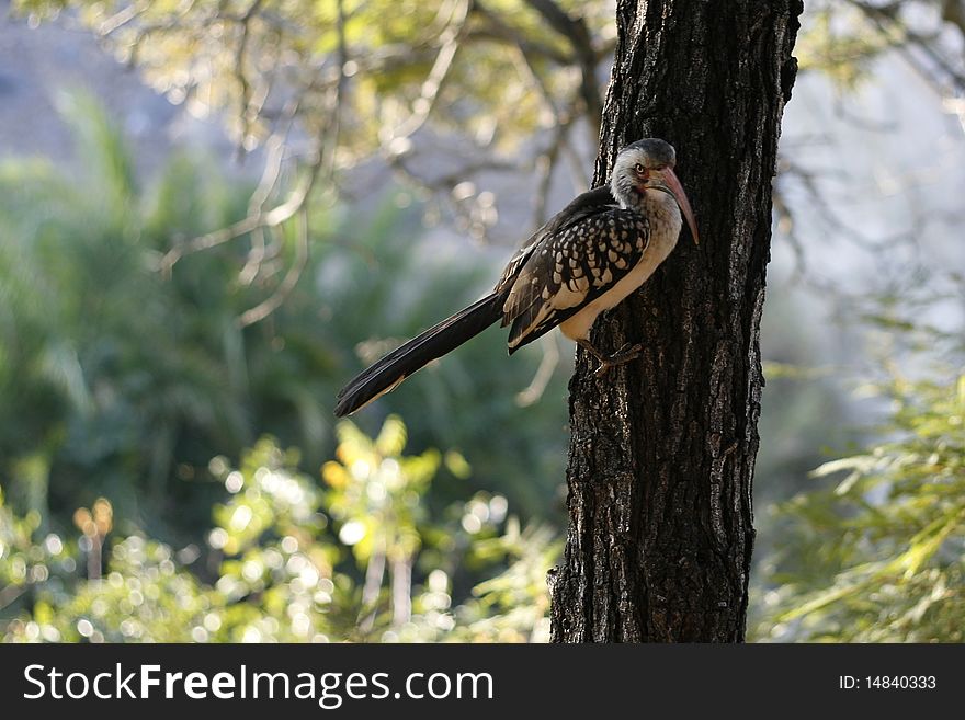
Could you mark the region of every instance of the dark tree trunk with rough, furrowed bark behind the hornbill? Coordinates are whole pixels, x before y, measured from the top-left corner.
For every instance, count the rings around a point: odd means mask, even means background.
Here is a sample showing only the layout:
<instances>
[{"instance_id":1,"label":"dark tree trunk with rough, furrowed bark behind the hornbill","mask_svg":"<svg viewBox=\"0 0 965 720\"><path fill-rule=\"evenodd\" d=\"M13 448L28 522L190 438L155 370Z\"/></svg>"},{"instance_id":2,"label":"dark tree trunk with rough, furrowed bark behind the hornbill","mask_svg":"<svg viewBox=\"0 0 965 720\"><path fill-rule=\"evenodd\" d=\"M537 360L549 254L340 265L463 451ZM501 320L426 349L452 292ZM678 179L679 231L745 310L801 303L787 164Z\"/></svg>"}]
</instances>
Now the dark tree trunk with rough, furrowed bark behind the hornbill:
<instances>
[{"instance_id":1,"label":"dark tree trunk with rough, furrowed bark behind the hornbill","mask_svg":"<svg viewBox=\"0 0 965 720\"><path fill-rule=\"evenodd\" d=\"M801 0L618 0L595 184L660 137L701 233L598 320L593 344L643 343L570 381L570 528L550 576L556 642L743 639L771 179Z\"/></svg>"}]
</instances>

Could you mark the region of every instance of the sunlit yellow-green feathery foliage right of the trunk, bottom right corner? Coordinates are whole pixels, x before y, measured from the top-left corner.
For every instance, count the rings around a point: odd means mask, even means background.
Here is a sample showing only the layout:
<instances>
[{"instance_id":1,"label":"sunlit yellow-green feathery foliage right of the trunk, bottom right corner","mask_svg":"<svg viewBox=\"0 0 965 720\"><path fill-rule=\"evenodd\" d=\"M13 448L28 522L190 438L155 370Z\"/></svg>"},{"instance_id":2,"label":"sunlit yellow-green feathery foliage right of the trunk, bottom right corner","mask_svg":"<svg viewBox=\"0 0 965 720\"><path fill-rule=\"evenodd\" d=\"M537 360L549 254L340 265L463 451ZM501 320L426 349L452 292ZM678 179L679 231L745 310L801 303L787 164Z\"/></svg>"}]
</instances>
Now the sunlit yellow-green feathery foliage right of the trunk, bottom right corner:
<instances>
[{"instance_id":1,"label":"sunlit yellow-green feathery foliage right of the trunk, bottom right corner","mask_svg":"<svg viewBox=\"0 0 965 720\"><path fill-rule=\"evenodd\" d=\"M917 377L888 363L865 386L890 404L870 447L824 464L822 487L780 507L759 638L963 641L965 375L915 359Z\"/></svg>"}]
</instances>

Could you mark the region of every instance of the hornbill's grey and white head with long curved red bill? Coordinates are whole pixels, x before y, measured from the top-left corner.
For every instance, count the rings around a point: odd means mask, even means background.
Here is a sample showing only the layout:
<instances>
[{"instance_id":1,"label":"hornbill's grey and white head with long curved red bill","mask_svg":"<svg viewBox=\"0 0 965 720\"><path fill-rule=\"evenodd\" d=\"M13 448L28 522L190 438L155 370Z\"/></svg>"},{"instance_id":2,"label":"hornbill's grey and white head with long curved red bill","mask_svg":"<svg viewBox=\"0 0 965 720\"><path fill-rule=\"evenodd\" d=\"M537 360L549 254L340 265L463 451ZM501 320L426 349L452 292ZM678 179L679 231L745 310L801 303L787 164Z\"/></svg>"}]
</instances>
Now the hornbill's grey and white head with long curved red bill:
<instances>
[{"instance_id":1,"label":"hornbill's grey and white head with long curved red bill","mask_svg":"<svg viewBox=\"0 0 965 720\"><path fill-rule=\"evenodd\" d=\"M670 195L680 207L691 236L697 243L697 224L683 186L673 173L676 164L677 152L669 142L657 138L631 142L616 156L610 181L611 192L624 207L638 207L648 195L654 197L654 193Z\"/></svg>"}]
</instances>

